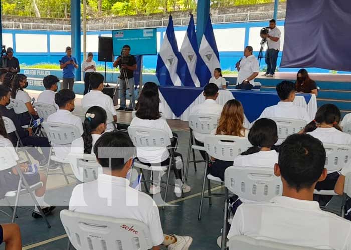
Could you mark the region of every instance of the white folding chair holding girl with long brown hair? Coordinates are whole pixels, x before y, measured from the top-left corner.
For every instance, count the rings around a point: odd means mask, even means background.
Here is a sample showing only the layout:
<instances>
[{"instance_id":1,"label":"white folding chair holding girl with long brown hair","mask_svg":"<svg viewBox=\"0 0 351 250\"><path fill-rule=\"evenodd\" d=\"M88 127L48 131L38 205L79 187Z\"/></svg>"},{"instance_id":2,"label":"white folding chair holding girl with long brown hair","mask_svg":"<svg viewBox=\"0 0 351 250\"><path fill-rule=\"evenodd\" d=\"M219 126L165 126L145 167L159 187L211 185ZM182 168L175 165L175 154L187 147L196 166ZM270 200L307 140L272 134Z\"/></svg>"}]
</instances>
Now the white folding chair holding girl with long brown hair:
<instances>
[{"instance_id":1,"label":"white folding chair holding girl with long brown hair","mask_svg":"<svg viewBox=\"0 0 351 250\"><path fill-rule=\"evenodd\" d=\"M206 151L206 156L213 157L218 160L224 161L234 161L234 158L246 151L251 144L249 140L245 137L239 136L229 136L229 135L208 135L205 136L204 148ZM208 162L208 160L207 160ZM208 163L205 164L204 179L202 183L200 206L198 213L198 220L201 219L202 206L204 198L209 199L209 204L212 204L211 198L219 197L224 198L224 194L214 194L211 195L211 182L210 180L216 181L220 184L223 183L220 178L214 177L211 174L207 174ZM207 178L208 195L205 196L205 183Z\"/></svg>"}]
</instances>

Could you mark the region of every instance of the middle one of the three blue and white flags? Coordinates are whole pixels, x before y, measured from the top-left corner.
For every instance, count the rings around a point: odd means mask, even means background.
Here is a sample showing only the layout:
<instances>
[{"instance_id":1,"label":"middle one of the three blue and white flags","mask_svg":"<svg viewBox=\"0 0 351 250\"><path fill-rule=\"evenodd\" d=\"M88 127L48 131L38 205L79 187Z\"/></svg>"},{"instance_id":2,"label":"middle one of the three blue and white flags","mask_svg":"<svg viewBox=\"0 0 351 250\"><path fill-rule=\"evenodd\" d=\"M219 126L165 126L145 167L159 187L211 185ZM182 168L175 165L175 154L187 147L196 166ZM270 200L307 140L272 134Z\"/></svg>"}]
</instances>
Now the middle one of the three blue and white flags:
<instances>
[{"instance_id":1,"label":"middle one of the three blue and white flags","mask_svg":"<svg viewBox=\"0 0 351 250\"><path fill-rule=\"evenodd\" d=\"M196 62L199 56L199 47L196 40L194 17L190 15L190 21L185 34L178 62L178 75L183 85L200 87L200 81L195 73Z\"/></svg>"}]
</instances>

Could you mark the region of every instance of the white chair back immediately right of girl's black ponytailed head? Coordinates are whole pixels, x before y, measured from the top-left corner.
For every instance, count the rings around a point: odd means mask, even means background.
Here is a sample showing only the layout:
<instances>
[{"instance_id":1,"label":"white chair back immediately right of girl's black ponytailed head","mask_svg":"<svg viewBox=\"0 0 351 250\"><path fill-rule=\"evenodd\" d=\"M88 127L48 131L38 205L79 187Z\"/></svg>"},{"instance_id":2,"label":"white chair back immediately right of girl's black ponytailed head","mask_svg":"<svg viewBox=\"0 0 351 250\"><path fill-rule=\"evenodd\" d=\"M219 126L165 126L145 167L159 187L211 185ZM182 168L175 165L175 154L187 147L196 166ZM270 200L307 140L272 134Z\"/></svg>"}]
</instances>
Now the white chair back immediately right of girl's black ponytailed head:
<instances>
[{"instance_id":1,"label":"white chair back immediately right of girl's black ponytailed head","mask_svg":"<svg viewBox=\"0 0 351 250\"><path fill-rule=\"evenodd\" d=\"M305 128L307 122L298 119L272 118L278 128L278 138L286 139L289 135L298 133Z\"/></svg>"}]
</instances>

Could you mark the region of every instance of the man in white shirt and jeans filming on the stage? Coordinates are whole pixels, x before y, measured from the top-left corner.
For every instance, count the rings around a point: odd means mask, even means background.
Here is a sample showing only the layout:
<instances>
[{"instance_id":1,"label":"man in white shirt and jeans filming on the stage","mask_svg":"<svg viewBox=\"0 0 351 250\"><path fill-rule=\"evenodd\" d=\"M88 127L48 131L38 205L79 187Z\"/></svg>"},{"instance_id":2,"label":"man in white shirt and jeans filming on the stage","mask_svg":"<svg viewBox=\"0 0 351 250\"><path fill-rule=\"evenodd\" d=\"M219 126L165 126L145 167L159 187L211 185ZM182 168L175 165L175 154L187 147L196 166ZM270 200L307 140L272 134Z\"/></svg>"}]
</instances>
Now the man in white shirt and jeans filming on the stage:
<instances>
[{"instance_id":1,"label":"man in white shirt and jeans filming on the stage","mask_svg":"<svg viewBox=\"0 0 351 250\"><path fill-rule=\"evenodd\" d=\"M269 21L270 31L262 38L267 39L268 49L266 51L267 72L263 76L273 77L277 67L278 53L280 50L280 30L276 27L274 19Z\"/></svg>"}]
</instances>

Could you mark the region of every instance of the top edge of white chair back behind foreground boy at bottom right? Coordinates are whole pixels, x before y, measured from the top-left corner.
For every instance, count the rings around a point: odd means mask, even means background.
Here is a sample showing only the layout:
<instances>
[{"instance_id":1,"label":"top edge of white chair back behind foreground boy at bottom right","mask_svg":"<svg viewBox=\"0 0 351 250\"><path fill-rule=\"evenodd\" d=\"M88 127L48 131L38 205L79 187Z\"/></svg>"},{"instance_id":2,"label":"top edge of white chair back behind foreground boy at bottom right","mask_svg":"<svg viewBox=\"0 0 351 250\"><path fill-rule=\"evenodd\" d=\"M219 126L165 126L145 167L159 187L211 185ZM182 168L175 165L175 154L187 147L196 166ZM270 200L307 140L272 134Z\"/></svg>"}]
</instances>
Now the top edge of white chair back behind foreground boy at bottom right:
<instances>
[{"instance_id":1,"label":"top edge of white chair back behind foreground boy at bottom right","mask_svg":"<svg viewBox=\"0 0 351 250\"><path fill-rule=\"evenodd\" d=\"M313 250L315 248L287 245L247 236L234 236L229 239L229 250Z\"/></svg>"}]
</instances>

